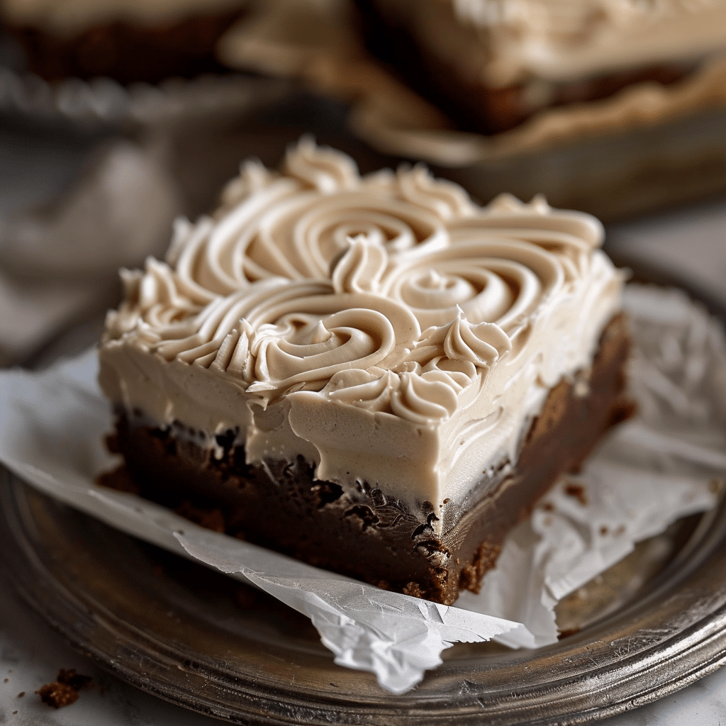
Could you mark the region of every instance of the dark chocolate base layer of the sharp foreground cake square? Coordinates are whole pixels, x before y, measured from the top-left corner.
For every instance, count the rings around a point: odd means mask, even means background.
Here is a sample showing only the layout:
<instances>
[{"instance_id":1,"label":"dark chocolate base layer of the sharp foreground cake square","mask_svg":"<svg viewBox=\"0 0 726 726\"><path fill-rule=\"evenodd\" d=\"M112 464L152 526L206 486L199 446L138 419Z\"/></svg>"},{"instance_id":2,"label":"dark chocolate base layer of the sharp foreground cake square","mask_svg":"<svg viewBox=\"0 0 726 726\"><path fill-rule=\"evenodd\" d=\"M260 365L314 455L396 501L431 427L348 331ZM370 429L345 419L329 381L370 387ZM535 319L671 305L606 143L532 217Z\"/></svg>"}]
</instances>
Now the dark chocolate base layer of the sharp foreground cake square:
<instances>
[{"instance_id":1,"label":"dark chocolate base layer of the sharp foreground cake square","mask_svg":"<svg viewBox=\"0 0 726 726\"><path fill-rule=\"evenodd\" d=\"M482 481L481 490L489 493L476 500L475 492L469 508L442 534L432 526L441 513L431 502L421 504L428 514L421 521L420 513L380 489L362 484L350 493L316 481L302 457L247 465L242 446L233 445L234 432L218 436L224 454L216 458L194 442L194 432L134 425L120 412L114 447L126 459L135 491L203 526L448 605L460 590L478 590L507 532L529 516L560 474L579 468L609 426L630 415L628 349L626 325L618 316L600 339L592 369L550 391L515 468L504 462ZM124 486L120 481L116 473L102 483ZM444 515L444 523L450 519Z\"/></svg>"}]
</instances>

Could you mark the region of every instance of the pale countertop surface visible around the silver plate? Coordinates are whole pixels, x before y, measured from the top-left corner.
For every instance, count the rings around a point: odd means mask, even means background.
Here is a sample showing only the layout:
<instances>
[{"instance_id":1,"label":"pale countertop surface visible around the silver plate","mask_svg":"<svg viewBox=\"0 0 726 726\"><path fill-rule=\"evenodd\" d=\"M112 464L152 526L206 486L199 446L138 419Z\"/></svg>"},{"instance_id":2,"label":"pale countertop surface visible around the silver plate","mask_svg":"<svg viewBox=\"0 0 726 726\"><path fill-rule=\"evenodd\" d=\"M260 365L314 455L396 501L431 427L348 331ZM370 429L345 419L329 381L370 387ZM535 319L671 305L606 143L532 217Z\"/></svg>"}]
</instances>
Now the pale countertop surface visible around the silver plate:
<instances>
[{"instance_id":1,"label":"pale countertop surface visible around the silver plate","mask_svg":"<svg viewBox=\"0 0 726 726\"><path fill-rule=\"evenodd\" d=\"M67 184L78 154L62 147L19 147L17 134L0 126L0 215ZM19 137L18 137L19 138ZM64 151L65 148L65 151ZM55 157L52 158L52 155ZM614 253L642 259L726 300L726 197L608 229ZM2 273L0 269L0 274ZM62 346L80 349L97 335L97 322L81 326ZM50 346L52 359L65 348ZM70 350L68 351L70 352ZM54 710L35 691L55 680L59 669L76 669L92 678L76 703ZM608 719L612 726L716 726L726 722L726 668L672 696ZM118 680L76 653L12 590L0 557L0 724L8 726L204 726L219 721L149 696Z\"/></svg>"}]
</instances>

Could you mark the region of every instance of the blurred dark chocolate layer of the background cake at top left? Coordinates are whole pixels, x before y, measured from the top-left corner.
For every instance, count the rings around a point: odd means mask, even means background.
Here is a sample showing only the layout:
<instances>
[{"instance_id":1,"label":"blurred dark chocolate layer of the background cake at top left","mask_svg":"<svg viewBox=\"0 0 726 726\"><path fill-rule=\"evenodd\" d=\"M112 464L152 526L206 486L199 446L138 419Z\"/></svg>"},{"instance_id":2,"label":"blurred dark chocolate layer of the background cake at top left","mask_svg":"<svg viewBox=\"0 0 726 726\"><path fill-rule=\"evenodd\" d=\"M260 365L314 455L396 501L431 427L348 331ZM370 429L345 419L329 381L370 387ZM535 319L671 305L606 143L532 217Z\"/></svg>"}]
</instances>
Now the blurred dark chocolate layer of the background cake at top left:
<instances>
[{"instance_id":1,"label":"blurred dark chocolate layer of the background cake at top left","mask_svg":"<svg viewBox=\"0 0 726 726\"><path fill-rule=\"evenodd\" d=\"M107 76L119 83L158 83L228 70L214 51L240 16L240 10L232 10L154 28L107 23L70 37L28 26L5 25L3 30L23 46L28 70L46 81Z\"/></svg>"}]
</instances>

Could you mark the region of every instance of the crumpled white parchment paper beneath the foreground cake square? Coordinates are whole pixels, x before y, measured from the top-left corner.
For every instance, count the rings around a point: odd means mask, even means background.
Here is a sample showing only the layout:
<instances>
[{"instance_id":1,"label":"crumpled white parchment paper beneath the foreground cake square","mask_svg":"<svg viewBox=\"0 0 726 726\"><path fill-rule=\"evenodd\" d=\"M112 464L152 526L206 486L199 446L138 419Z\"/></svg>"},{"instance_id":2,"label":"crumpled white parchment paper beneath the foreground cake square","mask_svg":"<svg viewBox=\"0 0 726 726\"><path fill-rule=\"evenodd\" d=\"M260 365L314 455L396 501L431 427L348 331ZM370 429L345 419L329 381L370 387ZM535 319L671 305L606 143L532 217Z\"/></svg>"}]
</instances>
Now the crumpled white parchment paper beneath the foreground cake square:
<instances>
[{"instance_id":1,"label":"crumpled white parchment paper beneath the foreground cake square","mask_svg":"<svg viewBox=\"0 0 726 726\"><path fill-rule=\"evenodd\" d=\"M0 372L0 462L111 526L261 587L309 616L336 663L403 693L452 643L555 643L558 600L636 542L714 505L726 474L722 330L678 291L630 286L626 306L640 414L552 489L510 534L481 593L463 593L457 607L378 590L97 486L118 461L102 444L112 423L95 351L46 372Z\"/></svg>"}]
</instances>

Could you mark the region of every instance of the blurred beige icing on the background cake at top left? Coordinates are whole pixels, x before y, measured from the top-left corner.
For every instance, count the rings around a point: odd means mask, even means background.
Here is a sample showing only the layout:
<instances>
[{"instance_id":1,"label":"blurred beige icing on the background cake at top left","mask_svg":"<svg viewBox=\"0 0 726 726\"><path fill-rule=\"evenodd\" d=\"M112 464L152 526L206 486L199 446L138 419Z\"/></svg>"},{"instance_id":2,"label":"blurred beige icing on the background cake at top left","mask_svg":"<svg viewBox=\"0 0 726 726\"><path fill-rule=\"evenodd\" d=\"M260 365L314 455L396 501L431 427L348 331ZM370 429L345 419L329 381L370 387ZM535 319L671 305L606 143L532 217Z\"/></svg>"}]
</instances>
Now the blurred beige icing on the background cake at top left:
<instances>
[{"instance_id":1,"label":"blurred beige icing on the background cake at top left","mask_svg":"<svg viewBox=\"0 0 726 726\"><path fill-rule=\"evenodd\" d=\"M32 25L71 36L115 21L164 25L246 4L248 0L2 0L0 17L12 25Z\"/></svg>"}]
</instances>

